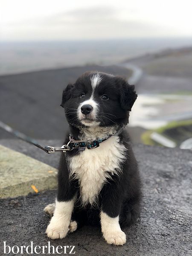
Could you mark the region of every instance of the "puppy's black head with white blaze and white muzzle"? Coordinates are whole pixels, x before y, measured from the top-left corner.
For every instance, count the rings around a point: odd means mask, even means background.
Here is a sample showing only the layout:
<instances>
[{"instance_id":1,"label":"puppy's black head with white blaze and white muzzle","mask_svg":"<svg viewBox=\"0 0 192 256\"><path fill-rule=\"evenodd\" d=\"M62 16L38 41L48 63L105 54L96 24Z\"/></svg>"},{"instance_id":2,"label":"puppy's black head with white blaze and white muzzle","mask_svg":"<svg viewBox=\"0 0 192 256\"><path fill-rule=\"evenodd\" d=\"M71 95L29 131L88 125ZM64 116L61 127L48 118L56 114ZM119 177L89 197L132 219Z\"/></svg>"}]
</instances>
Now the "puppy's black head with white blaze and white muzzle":
<instances>
[{"instance_id":1,"label":"puppy's black head with white blaze and white muzzle","mask_svg":"<svg viewBox=\"0 0 192 256\"><path fill-rule=\"evenodd\" d=\"M67 85L61 106L71 125L111 126L128 123L136 99L134 85L122 77L91 71Z\"/></svg>"}]
</instances>

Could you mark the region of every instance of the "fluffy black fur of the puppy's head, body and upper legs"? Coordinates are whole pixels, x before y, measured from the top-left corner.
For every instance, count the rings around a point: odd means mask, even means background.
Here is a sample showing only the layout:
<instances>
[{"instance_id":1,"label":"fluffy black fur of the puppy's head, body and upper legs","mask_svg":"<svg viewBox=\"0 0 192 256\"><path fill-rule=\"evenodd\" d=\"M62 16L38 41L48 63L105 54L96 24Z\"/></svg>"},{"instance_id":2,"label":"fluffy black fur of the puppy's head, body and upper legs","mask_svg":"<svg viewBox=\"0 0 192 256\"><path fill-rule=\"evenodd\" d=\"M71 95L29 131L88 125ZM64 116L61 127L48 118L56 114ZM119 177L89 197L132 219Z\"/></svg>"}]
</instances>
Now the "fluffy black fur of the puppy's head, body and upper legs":
<instances>
[{"instance_id":1,"label":"fluffy black fur of the puppy's head, body and upper legs","mask_svg":"<svg viewBox=\"0 0 192 256\"><path fill-rule=\"evenodd\" d=\"M92 93L90 78L93 74L94 72L84 73L77 79L75 84L67 85L67 88L63 91L61 106L65 110L65 115L70 125L69 133L75 140L79 140L81 129L85 128L85 125L82 125L77 118L75 110L81 102L90 99ZM100 73L100 75L102 76L102 81L96 87L94 93L94 99L99 106L98 121L101 122L100 127L103 128L106 126L117 127L117 133L120 138L119 143L127 148L126 160L122 163L122 172L119 175L114 175L112 179L108 179L108 182L103 184L102 190L98 195L97 206L87 204L82 207L81 202L77 200L72 219L77 221L78 227L87 222L99 224L101 208L110 217L119 215L121 227L132 224L140 212L140 176L137 161L131 149L129 136L124 128L128 123L129 111L131 111L137 94L135 93L134 85L129 85L125 79L105 73ZM82 93L84 93L84 97L80 98ZM107 95L108 99L102 99L103 95ZM69 111L70 109L74 110ZM67 134L64 144L67 144L68 141L69 134ZM78 149L74 149L66 154L68 157L73 157L76 154L81 154L81 152ZM57 200L69 201L76 193L78 194L77 198L80 198L79 180L70 178L70 168L65 154L62 153L58 172Z\"/></svg>"}]
</instances>

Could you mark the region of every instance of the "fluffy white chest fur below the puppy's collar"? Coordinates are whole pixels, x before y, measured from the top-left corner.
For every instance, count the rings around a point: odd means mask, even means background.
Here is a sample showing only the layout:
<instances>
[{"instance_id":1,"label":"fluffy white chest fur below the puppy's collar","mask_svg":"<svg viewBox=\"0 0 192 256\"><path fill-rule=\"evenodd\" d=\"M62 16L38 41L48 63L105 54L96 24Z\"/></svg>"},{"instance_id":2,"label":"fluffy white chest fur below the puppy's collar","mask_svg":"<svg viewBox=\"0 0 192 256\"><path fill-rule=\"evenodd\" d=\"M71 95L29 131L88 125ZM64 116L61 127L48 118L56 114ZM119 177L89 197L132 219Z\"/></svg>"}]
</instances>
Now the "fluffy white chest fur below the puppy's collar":
<instances>
[{"instance_id":1,"label":"fluffy white chest fur below the puppy's collar","mask_svg":"<svg viewBox=\"0 0 192 256\"><path fill-rule=\"evenodd\" d=\"M70 172L79 180L83 204L93 204L106 178L121 171L125 151L124 145L119 144L119 137L112 136L98 148L86 148L69 160Z\"/></svg>"}]
</instances>

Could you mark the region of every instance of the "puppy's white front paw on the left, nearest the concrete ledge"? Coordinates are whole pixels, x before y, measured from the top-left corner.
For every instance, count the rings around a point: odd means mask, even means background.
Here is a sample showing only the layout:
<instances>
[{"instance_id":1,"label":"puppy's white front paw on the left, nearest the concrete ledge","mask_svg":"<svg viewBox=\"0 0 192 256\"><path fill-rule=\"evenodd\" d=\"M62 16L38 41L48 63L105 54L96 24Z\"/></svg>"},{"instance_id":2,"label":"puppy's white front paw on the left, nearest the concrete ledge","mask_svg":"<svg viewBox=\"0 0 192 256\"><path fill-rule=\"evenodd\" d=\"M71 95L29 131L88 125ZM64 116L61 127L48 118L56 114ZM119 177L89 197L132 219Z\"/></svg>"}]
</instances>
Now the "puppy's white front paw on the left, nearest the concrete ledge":
<instances>
[{"instance_id":1,"label":"puppy's white front paw on the left, nearest the concrete ledge","mask_svg":"<svg viewBox=\"0 0 192 256\"><path fill-rule=\"evenodd\" d=\"M50 239L62 239L67 236L69 224L53 216L47 227L46 234Z\"/></svg>"}]
</instances>

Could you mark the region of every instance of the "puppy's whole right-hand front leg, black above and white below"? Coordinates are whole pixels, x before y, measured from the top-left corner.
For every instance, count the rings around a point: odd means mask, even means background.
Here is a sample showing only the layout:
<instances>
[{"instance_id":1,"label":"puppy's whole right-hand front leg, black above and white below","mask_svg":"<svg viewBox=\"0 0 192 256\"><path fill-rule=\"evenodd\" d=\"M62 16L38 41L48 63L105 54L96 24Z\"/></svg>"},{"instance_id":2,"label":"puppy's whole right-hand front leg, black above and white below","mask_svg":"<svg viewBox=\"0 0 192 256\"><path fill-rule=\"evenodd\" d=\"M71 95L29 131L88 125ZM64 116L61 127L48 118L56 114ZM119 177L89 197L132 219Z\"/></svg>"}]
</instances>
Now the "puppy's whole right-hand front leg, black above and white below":
<instances>
[{"instance_id":1,"label":"puppy's whole right-hand front leg, black above and white below","mask_svg":"<svg viewBox=\"0 0 192 256\"><path fill-rule=\"evenodd\" d=\"M105 184L102 191L102 211L100 221L102 234L108 244L123 245L126 235L119 225L119 212L121 207L121 193L118 192L117 183Z\"/></svg>"}]
</instances>

